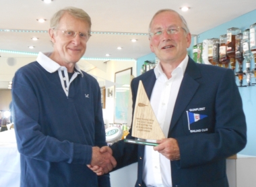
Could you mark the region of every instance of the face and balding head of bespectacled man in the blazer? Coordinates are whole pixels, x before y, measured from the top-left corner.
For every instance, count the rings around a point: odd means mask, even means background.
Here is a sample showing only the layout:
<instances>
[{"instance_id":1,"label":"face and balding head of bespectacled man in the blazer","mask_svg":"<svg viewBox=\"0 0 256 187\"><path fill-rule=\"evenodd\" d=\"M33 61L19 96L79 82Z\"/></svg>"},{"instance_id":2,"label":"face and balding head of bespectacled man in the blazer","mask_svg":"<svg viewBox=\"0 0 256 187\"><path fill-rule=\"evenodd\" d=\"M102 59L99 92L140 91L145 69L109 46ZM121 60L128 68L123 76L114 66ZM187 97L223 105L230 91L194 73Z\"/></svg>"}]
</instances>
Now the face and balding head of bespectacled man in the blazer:
<instances>
[{"instance_id":1,"label":"face and balding head of bespectacled man in the blazer","mask_svg":"<svg viewBox=\"0 0 256 187\"><path fill-rule=\"evenodd\" d=\"M187 34L183 28L180 28L176 34L166 32L166 29L173 26L184 27L179 15L172 11L164 11L156 15L150 26L152 33L165 29L162 35L150 36L150 49L161 63L180 64L191 44L191 34Z\"/></svg>"}]
</instances>

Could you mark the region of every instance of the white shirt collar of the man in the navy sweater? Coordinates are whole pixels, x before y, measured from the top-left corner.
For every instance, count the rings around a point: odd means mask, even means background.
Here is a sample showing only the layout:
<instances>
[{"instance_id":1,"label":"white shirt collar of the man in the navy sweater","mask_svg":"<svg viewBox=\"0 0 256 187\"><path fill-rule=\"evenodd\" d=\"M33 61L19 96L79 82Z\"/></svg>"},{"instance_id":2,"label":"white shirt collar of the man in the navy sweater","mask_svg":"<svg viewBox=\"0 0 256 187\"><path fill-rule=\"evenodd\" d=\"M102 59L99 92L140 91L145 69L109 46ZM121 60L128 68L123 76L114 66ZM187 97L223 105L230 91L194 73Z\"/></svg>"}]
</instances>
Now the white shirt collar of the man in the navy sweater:
<instances>
[{"instance_id":1,"label":"white shirt collar of the man in the navy sweater","mask_svg":"<svg viewBox=\"0 0 256 187\"><path fill-rule=\"evenodd\" d=\"M59 69L67 69L64 66L59 65L57 62L51 60L51 58L49 58L51 54L51 52L39 52L36 61L42 66L42 68L44 68L47 72L50 73L56 72ZM78 74L82 74L82 71L80 70L77 64L75 64L75 72L77 72Z\"/></svg>"}]
</instances>

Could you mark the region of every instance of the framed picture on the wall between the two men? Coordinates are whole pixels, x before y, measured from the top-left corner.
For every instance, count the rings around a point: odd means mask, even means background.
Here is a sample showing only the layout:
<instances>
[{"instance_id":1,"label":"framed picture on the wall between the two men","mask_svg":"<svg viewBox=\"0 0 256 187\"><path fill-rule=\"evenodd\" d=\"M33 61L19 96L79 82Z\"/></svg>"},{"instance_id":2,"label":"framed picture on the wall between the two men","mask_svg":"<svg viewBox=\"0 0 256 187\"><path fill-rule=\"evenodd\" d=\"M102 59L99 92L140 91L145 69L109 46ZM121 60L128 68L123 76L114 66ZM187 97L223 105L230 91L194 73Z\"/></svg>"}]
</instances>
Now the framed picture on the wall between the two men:
<instances>
[{"instance_id":1,"label":"framed picture on the wall between the two men","mask_svg":"<svg viewBox=\"0 0 256 187\"><path fill-rule=\"evenodd\" d=\"M127 68L115 73L114 123L127 123L132 70L133 68Z\"/></svg>"}]
</instances>

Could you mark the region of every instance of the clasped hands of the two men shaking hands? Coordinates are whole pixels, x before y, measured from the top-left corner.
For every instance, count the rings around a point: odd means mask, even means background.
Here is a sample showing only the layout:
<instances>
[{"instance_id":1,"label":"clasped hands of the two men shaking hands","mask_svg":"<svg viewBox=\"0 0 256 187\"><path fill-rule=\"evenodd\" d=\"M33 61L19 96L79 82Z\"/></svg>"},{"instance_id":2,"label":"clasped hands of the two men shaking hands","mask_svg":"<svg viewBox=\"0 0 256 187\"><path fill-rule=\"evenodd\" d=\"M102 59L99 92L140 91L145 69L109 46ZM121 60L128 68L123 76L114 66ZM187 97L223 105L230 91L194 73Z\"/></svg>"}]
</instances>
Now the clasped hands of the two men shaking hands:
<instances>
[{"instance_id":1,"label":"clasped hands of the two men shaking hands","mask_svg":"<svg viewBox=\"0 0 256 187\"><path fill-rule=\"evenodd\" d=\"M117 166L117 161L113 158L110 147L92 147L92 162L87 166L98 176L101 176L113 170Z\"/></svg>"}]
</instances>

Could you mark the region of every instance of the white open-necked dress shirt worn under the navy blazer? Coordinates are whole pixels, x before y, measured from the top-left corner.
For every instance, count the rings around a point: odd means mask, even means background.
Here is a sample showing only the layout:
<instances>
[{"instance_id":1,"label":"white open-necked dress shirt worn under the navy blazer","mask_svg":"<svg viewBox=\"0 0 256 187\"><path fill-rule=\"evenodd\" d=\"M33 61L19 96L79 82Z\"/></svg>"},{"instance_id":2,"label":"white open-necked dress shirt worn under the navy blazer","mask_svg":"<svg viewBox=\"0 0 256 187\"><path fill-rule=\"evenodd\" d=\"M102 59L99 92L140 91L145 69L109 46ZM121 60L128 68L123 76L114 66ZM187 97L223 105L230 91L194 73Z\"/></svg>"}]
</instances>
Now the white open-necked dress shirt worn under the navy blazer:
<instances>
[{"instance_id":1,"label":"white open-necked dress shirt worn under the navy blazer","mask_svg":"<svg viewBox=\"0 0 256 187\"><path fill-rule=\"evenodd\" d=\"M156 83L152 90L150 104L165 137L168 137L172 112L188 61L189 57L186 56L181 64L172 71L172 77L169 79L162 71L160 63L154 69ZM150 145L145 146L143 181L146 186L172 187L170 160L158 151L154 151Z\"/></svg>"}]
</instances>

